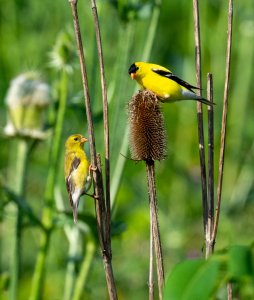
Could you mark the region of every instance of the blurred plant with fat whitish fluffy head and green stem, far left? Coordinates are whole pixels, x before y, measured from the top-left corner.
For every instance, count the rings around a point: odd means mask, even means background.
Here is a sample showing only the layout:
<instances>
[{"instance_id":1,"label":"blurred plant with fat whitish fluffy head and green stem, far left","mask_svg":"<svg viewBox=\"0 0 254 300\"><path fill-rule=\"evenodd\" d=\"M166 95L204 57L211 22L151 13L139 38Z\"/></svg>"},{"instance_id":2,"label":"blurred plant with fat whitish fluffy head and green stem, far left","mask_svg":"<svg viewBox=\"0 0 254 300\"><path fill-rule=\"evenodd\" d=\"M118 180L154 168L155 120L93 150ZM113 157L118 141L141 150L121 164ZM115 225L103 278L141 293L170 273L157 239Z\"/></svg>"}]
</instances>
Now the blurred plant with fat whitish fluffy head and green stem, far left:
<instances>
[{"instance_id":1,"label":"blurred plant with fat whitish fluffy head and green stem, far left","mask_svg":"<svg viewBox=\"0 0 254 300\"><path fill-rule=\"evenodd\" d=\"M11 81L6 95L7 124L5 135L11 139L15 149L15 159L11 160L12 185L6 185L5 191L12 199L11 207L13 234L10 237L12 247L10 255L10 288L9 299L17 299L22 259L22 227L24 211L31 213L25 200L26 178L29 154L39 140L46 137L44 117L50 102L50 88L35 71L20 74ZM11 196L12 194L12 196ZM15 199L17 201L15 201ZM31 214L30 214L31 217Z\"/></svg>"}]
</instances>

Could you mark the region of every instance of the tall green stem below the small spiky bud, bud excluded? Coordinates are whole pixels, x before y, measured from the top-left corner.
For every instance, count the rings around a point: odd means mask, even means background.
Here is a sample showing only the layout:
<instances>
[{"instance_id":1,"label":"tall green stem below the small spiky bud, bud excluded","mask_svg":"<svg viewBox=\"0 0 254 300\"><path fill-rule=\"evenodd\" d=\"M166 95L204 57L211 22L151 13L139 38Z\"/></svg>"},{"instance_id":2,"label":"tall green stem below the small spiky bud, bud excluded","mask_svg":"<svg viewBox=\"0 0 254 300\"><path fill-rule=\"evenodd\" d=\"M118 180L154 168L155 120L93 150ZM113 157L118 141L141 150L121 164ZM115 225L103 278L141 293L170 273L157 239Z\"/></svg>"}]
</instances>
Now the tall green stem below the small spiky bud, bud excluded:
<instances>
[{"instance_id":1,"label":"tall green stem below the small spiky bud, bud excluded","mask_svg":"<svg viewBox=\"0 0 254 300\"><path fill-rule=\"evenodd\" d=\"M37 256L35 271L33 276L30 300L39 300L42 296L44 281L45 262L49 248L50 236L52 231L52 214L54 205L54 187L58 173L58 162L61 146L62 127L67 101L68 75L62 71L59 108L55 125L54 137L50 153L50 165L45 189L45 207L42 214L42 223L47 230L41 232L40 250Z\"/></svg>"}]
</instances>

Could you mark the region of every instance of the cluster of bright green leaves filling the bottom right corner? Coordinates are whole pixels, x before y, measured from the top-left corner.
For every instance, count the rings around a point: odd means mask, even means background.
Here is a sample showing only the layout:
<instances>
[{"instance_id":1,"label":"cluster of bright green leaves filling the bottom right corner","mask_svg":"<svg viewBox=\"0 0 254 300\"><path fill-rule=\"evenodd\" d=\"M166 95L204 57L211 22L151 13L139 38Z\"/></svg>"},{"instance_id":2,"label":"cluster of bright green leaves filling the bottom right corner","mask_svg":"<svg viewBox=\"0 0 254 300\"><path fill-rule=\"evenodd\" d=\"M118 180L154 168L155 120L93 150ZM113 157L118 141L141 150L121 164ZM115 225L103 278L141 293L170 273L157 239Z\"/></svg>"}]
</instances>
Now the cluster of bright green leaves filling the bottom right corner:
<instances>
[{"instance_id":1,"label":"cluster of bright green leaves filling the bottom right corner","mask_svg":"<svg viewBox=\"0 0 254 300\"><path fill-rule=\"evenodd\" d=\"M163 299L214 299L226 281L234 283L240 299L252 299L253 263L253 251L247 246L232 246L208 260L183 261L169 274Z\"/></svg>"}]
</instances>

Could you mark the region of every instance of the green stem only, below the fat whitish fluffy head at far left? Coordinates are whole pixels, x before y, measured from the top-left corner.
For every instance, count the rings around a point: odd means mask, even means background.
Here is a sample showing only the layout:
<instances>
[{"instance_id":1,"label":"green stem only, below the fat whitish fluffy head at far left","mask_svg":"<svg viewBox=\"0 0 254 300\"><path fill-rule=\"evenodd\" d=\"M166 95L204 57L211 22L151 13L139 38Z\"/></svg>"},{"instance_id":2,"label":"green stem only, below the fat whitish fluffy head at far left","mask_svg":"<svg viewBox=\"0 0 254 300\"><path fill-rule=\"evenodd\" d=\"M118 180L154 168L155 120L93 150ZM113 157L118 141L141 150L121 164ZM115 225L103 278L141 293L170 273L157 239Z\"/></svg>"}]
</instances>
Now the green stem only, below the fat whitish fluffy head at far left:
<instances>
[{"instance_id":1,"label":"green stem only, below the fat whitish fluffy head at far left","mask_svg":"<svg viewBox=\"0 0 254 300\"><path fill-rule=\"evenodd\" d=\"M25 178L27 171L27 154L28 154L28 141L25 139L19 139L17 145L17 157L16 157L16 170L15 181L13 186L15 189L15 196L24 197L25 190ZM11 274L10 274L10 300L17 299L18 281L20 273L20 260L21 260L21 234L22 234L22 212L19 206L14 207L14 236L13 246L11 253Z\"/></svg>"}]
</instances>

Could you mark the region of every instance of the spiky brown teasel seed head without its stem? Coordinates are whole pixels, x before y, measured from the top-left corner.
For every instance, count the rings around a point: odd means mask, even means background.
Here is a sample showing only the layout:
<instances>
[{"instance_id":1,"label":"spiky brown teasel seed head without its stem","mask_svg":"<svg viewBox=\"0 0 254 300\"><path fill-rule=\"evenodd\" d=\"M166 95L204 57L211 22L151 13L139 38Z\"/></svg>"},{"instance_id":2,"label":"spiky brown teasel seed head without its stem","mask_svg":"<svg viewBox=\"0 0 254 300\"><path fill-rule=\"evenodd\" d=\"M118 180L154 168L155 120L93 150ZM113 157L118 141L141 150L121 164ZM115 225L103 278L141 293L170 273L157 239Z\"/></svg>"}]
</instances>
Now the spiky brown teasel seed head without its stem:
<instances>
[{"instance_id":1,"label":"spiky brown teasel seed head without its stem","mask_svg":"<svg viewBox=\"0 0 254 300\"><path fill-rule=\"evenodd\" d=\"M134 160L162 160L166 157L166 134L160 102L148 90L139 91L128 105L130 150Z\"/></svg>"}]
</instances>

